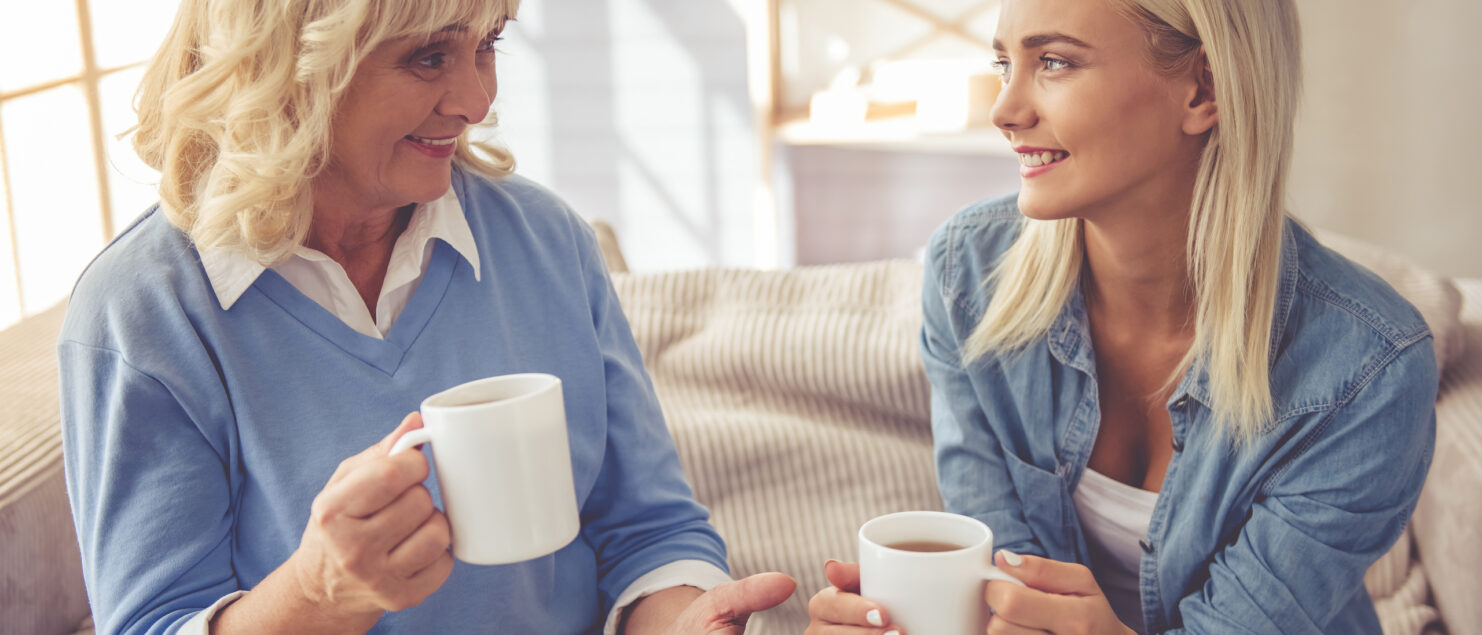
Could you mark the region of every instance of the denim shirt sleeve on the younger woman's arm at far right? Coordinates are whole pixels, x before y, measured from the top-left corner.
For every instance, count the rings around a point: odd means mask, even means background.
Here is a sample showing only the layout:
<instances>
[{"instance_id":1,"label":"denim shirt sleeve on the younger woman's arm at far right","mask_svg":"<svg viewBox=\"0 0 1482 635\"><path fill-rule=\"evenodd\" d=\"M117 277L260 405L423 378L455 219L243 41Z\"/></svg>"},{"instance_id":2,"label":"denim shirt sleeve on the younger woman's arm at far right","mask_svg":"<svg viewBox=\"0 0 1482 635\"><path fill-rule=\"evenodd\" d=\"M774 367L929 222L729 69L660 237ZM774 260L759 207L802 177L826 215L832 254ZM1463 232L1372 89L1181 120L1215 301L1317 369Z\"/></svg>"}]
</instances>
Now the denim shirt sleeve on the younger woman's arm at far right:
<instances>
[{"instance_id":1,"label":"denim shirt sleeve on the younger woman's arm at far right","mask_svg":"<svg viewBox=\"0 0 1482 635\"><path fill-rule=\"evenodd\" d=\"M1177 632L1358 632L1363 573L1395 543L1420 499L1436 441L1430 337L1400 349L1295 441L1263 484L1235 542L1200 589L1178 601ZM1366 611L1372 616L1372 608ZM1371 628L1372 619L1365 620Z\"/></svg>"}]
</instances>

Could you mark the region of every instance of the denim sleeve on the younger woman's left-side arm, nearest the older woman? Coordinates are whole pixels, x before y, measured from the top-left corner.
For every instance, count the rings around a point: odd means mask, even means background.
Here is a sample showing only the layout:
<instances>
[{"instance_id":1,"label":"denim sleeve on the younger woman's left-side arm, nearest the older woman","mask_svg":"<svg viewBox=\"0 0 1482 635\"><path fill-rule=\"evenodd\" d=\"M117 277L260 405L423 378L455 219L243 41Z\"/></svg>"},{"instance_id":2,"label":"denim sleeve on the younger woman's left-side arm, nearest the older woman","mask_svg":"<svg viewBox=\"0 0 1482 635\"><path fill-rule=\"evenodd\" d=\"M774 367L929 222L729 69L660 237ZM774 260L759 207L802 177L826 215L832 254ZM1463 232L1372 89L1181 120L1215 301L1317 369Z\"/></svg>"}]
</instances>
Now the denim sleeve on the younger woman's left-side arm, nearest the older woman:
<instances>
[{"instance_id":1,"label":"denim sleeve on the younger woman's left-side arm, nearest the older woman","mask_svg":"<svg viewBox=\"0 0 1482 635\"><path fill-rule=\"evenodd\" d=\"M931 427L937 455L937 485L948 512L968 515L993 528L994 549L1046 556L1024 519L1002 445L962 366L962 341L953 319L968 320L943 282L944 234L932 240L922 282L922 362L931 381ZM971 332L968 323L959 325Z\"/></svg>"}]
</instances>

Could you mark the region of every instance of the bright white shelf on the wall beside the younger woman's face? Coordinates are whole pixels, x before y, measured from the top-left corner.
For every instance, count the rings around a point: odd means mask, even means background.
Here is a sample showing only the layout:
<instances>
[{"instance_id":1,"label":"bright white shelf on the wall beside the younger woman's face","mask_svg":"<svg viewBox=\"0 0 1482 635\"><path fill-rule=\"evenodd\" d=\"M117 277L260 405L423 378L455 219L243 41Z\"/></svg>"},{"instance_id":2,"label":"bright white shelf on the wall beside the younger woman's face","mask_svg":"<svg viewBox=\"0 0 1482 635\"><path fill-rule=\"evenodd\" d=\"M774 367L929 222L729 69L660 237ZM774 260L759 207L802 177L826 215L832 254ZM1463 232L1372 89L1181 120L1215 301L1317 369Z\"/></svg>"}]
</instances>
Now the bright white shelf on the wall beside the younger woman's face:
<instances>
[{"instance_id":1,"label":"bright white shelf on the wall beside the younger woman's face","mask_svg":"<svg viewBox=\"0 0 1482 635\"><path fill-rule=\"evenodd\" d=\"M782 120L777 138L787 145L831 145L926 154L1014 156L997 128L960 132L922 132L913 117L877 119L864 123L815 123L806 117Z\"/></svg>"}]
</instances>

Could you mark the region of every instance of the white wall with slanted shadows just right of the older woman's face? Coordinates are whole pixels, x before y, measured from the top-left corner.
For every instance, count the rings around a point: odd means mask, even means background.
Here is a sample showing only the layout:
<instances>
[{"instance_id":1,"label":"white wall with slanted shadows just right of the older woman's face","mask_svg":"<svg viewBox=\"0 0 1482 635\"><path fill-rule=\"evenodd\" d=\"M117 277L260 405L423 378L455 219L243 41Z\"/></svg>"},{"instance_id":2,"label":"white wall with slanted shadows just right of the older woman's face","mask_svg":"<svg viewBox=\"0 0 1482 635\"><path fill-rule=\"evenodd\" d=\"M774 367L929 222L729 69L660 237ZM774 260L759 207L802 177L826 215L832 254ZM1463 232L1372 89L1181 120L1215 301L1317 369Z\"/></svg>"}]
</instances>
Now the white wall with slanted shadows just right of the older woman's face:
<instances>
[{"instance_id":1,"label":"white wall with slanted shadows just right of the older woman's face","mask_svg":"<svg viewBox=\"0 0 1482 635\"><path fill-rule=\"evenodd\" d=\"M501 45L517 171L614 224L634 270L753 264L756 128L728 0L538 0Z\"/></svg>"}]
</instances>

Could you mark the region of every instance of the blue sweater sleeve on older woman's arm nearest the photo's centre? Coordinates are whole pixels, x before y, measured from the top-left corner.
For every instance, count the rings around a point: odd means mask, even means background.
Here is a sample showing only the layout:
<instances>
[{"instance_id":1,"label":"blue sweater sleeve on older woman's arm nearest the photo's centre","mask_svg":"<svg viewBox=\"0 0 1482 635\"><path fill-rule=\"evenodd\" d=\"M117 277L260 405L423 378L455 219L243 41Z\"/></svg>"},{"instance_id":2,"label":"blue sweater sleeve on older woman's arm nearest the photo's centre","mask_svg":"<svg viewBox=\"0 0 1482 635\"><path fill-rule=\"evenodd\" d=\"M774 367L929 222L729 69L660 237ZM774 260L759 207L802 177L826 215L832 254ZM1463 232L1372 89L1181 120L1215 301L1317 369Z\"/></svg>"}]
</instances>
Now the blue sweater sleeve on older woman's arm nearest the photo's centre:
<instances>
[{"instance_id":1,"label":"blue sweater sleeve on older woman's arm nearest the photo's centre","mask_svg":"<svg viewBox=\"0 0 1482 635\"><path fill-rule=\"evenodd\" d=\"M581 509L581 533L596 550L597 590L608 611L624 589L661 565L692 559L728 571L726 549L685 479L596 236L581 220L575 223L608 405L606 450Z\"/></svg>"}]
</instances>

